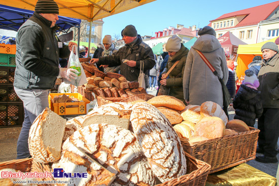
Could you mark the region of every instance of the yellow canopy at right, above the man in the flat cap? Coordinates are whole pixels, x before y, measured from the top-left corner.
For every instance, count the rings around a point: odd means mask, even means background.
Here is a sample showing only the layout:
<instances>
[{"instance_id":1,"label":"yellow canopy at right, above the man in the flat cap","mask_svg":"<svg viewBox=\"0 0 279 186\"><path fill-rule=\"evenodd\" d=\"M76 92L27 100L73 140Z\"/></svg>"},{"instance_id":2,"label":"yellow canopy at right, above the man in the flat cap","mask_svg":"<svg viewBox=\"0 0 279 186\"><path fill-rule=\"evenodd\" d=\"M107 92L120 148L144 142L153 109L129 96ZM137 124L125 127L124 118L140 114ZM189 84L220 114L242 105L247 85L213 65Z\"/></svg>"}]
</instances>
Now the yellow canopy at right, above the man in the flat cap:
<instances>
[{"instance_id":1,"label":"yellow canopy at right, above the man in the flat cap","mask_svg":"<svg viewBox=\"0 0 279 186\"><path fill-rule=\"evenodd\" d=\"M245 76L245 70L248 69L248 65L252 62L253 58L255 56L262 56L262 46L267 42L274 43L277 38L278 37L252 45L238 45L236 61L238 64L236 67L237 77L240 78L241 76Z\"/></svg>"}]
</instances>

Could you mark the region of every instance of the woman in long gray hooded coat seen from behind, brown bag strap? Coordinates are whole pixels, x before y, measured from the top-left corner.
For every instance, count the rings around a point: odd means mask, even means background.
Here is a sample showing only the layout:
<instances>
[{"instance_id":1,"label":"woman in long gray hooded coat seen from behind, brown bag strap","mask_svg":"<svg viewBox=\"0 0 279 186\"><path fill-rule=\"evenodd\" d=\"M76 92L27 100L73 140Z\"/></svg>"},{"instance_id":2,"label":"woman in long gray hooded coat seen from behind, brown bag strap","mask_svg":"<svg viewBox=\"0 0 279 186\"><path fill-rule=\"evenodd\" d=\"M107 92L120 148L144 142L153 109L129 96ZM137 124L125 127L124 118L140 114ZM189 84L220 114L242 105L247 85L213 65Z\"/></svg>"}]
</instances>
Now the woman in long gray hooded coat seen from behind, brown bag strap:
<instances>
[{"instance_id":1,"label":"woman in long gray hooded coat seen from behind, brown bag strap","mask_svg":"<svg viewBox=\"0 0 279 186\"><path fill-rule=\"evenodd\" d=\"M188 104L201 105L205 101L213 101L223 107L222 85L196 50L207 58L226 84L229 72L225 52L212 27L201 28L198 35L200 37L190 49L184 69L184 98Z\"/></svg>"}]
</instances>

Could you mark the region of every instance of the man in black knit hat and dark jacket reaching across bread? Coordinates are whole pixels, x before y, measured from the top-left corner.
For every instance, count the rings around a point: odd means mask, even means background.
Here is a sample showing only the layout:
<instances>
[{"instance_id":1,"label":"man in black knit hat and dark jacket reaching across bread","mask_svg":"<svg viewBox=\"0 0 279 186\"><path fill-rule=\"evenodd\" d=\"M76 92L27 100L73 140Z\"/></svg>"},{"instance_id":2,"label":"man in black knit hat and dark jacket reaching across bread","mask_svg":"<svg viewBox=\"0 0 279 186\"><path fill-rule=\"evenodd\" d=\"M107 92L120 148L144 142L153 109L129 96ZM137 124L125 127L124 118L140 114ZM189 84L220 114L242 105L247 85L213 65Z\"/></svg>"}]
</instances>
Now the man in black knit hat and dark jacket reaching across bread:
<instances>
[{"instance_id":1,"label":"man in black knit hat and dark jacket reaching across bread","mask_svg":"<svg viewBox=\"0 0 279 186\"><path fill-rule=\"evenodd\" d=\"M93 58L90 63L109 65L109 67L121 65L120 74L130 82L137 82L138 76L140 76L141 62L144 73L147 74L147 71L155 65L154 54L151 48L143 42L141 36L137 35L133 25L124 28L123 40L125 46L120 48L118 52L111 56Z\"/></svg>"}]
</instances>

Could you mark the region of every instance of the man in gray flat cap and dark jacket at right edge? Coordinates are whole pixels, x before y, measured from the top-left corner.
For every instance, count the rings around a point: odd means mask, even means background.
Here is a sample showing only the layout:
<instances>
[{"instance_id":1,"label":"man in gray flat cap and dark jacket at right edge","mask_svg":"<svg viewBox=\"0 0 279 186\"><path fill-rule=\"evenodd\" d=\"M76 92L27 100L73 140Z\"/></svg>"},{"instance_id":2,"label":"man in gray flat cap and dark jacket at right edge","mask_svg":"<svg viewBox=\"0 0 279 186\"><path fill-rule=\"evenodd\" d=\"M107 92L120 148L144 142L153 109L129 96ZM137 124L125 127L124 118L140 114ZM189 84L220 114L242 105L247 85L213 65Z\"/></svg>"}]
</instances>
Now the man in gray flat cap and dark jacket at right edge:
<instances>
[{"instance_id":1,"label":"man in gray flat cap and dark jacket at right edge","mask_svg":"<svg viewBox=\"0 0 279 186\"><path fill-rule=\"evenodd\" d=\"M276 155L279 137L279 50L275 43L265 43L262 48L263 61L258 73L263 105L262 116L258 120L260 129L256 160L262 163L278 162Z\"/></svg>"}]
</instances>

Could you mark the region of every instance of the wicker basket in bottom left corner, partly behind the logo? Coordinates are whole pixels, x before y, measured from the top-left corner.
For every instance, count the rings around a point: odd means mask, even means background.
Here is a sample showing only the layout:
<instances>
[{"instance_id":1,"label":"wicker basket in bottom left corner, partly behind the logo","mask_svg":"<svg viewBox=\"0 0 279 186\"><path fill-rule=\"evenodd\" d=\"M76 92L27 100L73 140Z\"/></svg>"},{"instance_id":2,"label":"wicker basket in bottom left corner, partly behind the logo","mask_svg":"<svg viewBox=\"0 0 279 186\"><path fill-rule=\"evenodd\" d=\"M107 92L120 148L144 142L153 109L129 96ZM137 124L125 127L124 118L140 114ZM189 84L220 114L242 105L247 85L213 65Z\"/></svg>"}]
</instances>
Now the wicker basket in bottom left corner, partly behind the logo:
<instances>
[{"instance_id":1,"label":"wicker basket in bottom left corner, partly behind the logo","mask_svg":"<svg viewBox=\"0 0 279 186\"><path fill-rule=\"evenodd\" d=\"M25 158L19 160L11 160L7 162L0 163L0 170L1 169L15 169L20 170L21 172L51 172L49 164L41 164L33 160L33 158ZM37 178L38 181L51 181L53 178ZM53 186L53 184L41 184L47 186Z\"/></svg>"}]
</instances>

